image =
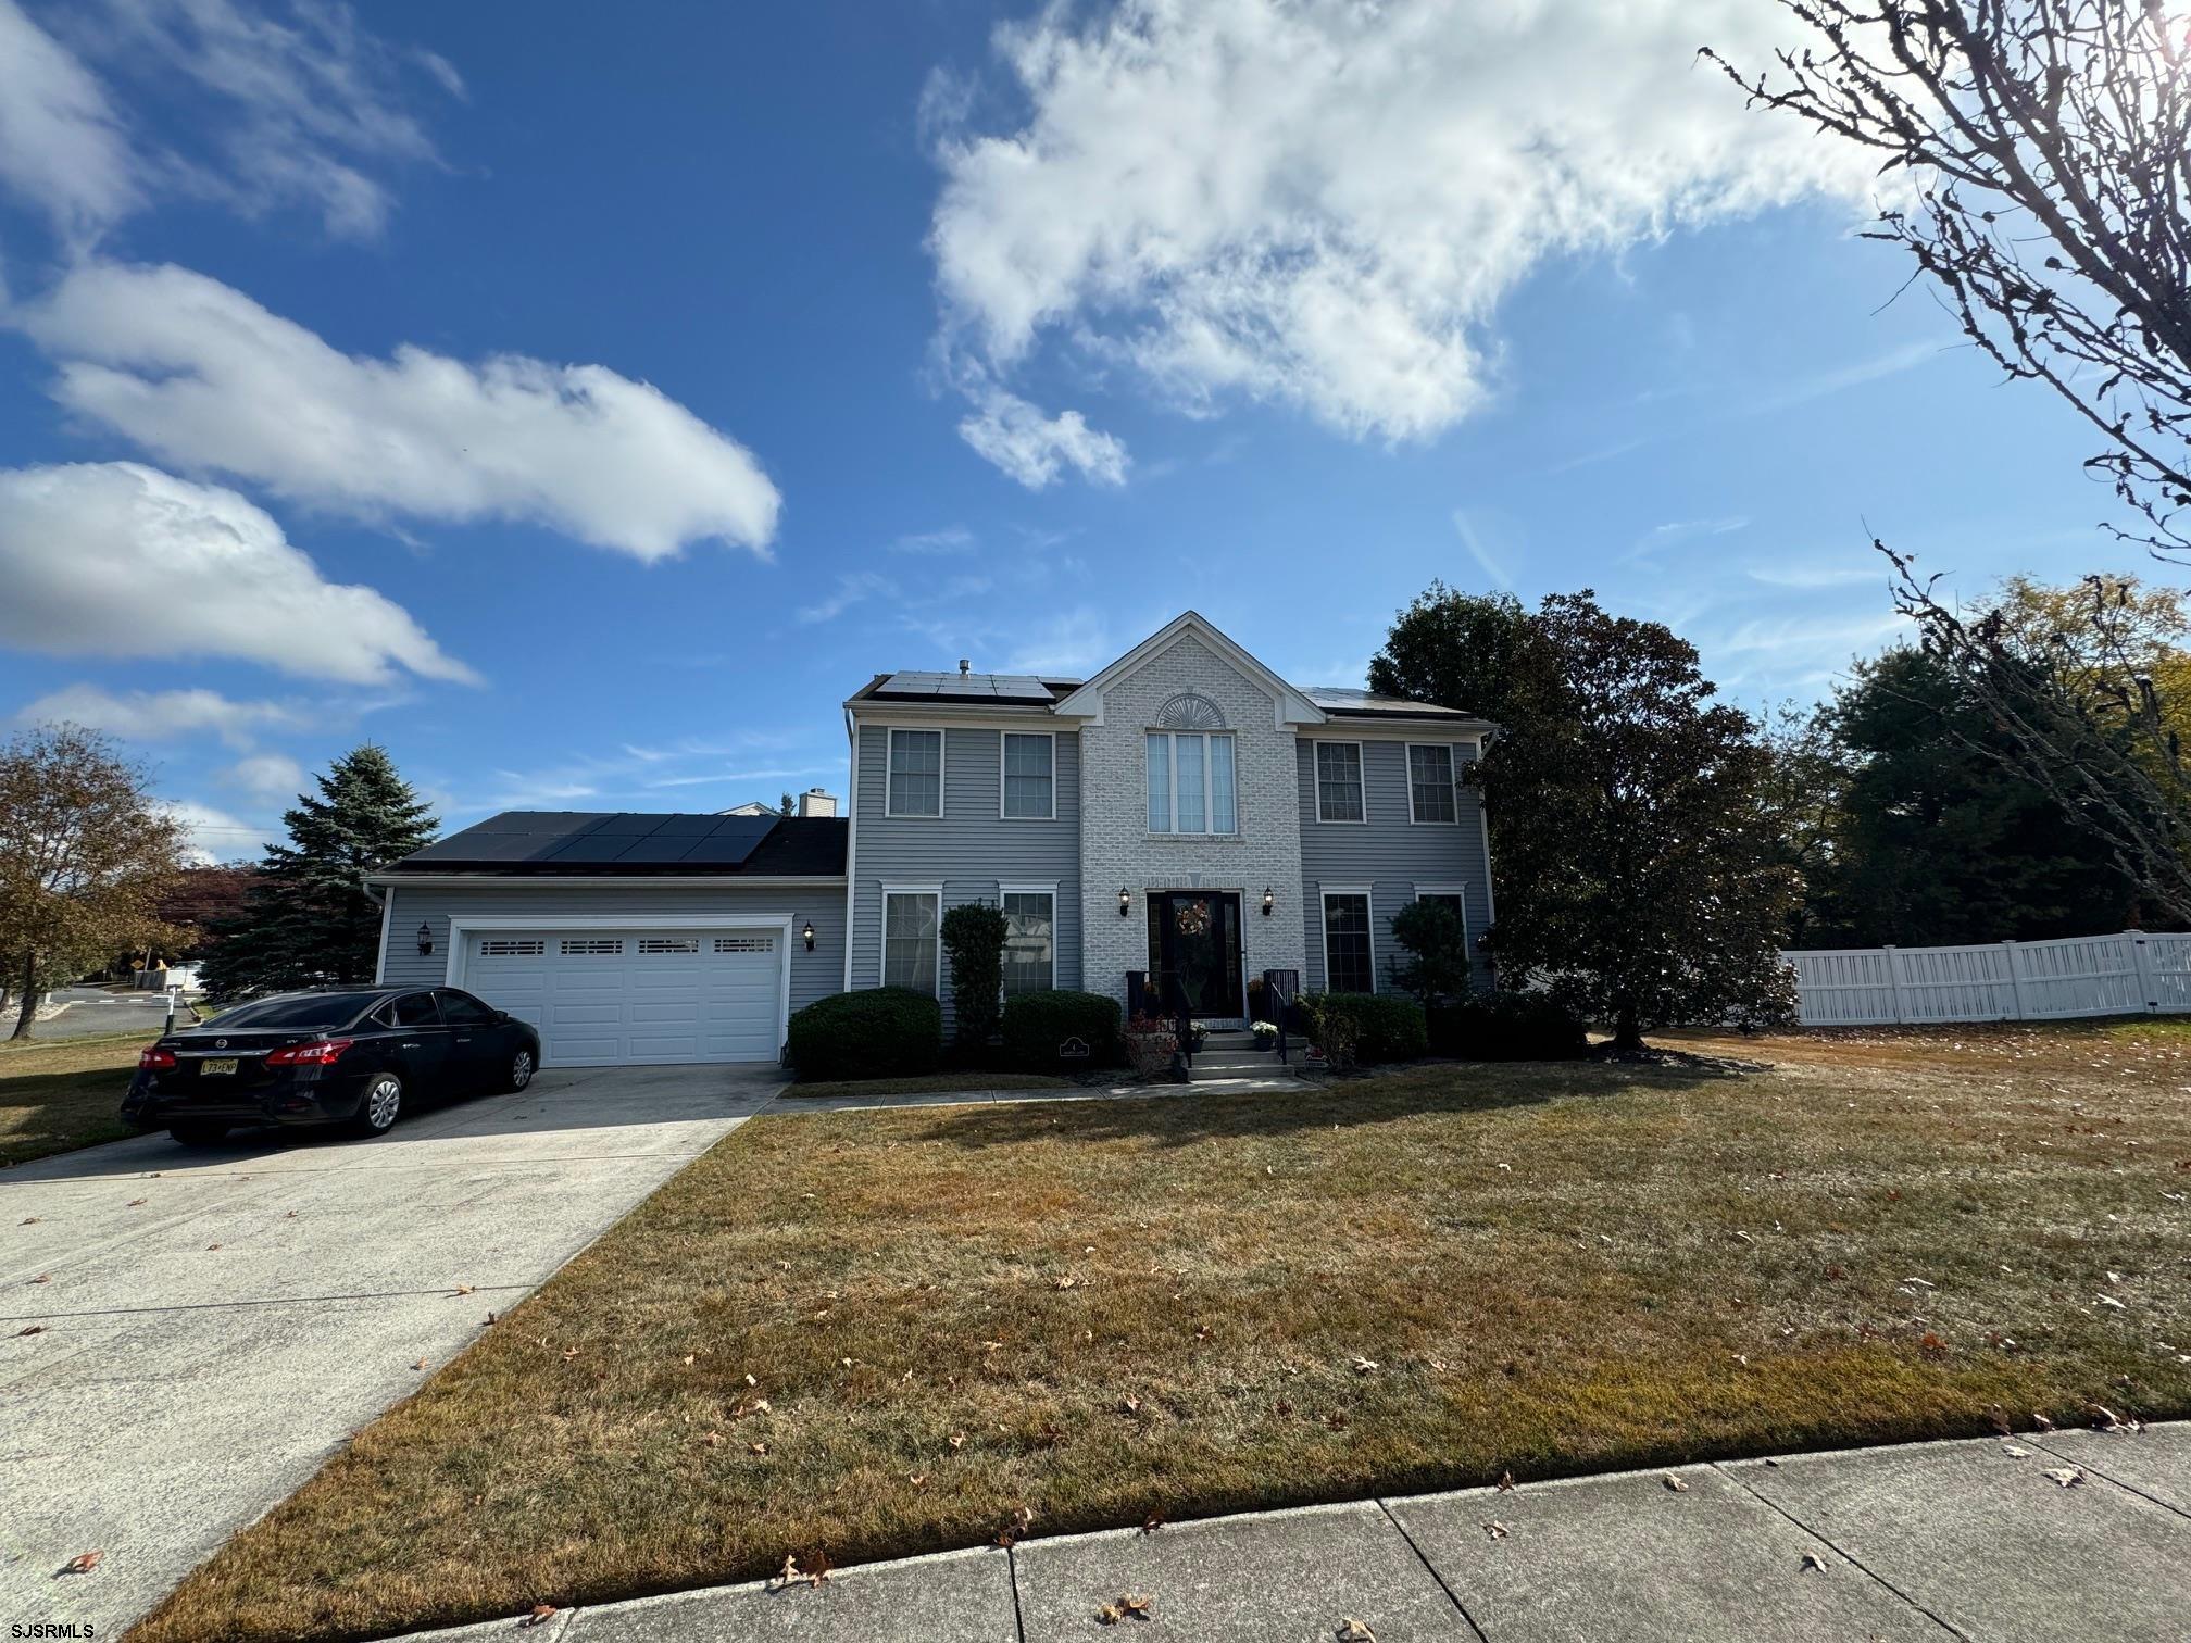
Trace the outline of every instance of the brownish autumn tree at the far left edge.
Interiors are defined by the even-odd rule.
[[[0,745],[0,973],[20,992],[15,1038],[31,1036],[39,990],[169,935],[160,903],[182,854],[182,824],[105,736],[39,725]]]

